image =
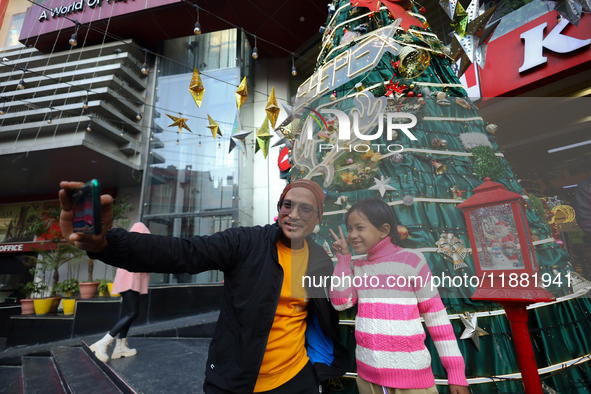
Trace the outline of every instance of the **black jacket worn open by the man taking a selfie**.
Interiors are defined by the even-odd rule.
[[[283,283],[277,256],[281,235],[275,223],[239,227],[211,236],[173,238],[112,229],[109,246],[89,257],[131,272],[224,272],[224,298],[205,371],[206,393],[252,393],[265,354]],[[326,252],[308,239],[308,275],[320,283],[333,265]],[[330,284],[330,280],[328,280]],[[349,362],[337,338],[338,315],[326,287],[308,288],[309,315],[315,314],[334,345],[331,365],[315,363],[319,381],[342,376]]]

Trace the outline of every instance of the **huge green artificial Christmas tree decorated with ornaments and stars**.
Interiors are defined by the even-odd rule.
[[[328,229],[342,225],[356,201],[381,197],[395,210],[408,235],[403,246],[423,252],[439,282],[473,393],[524,389],[505,311],[471,299],[477,282],[470,279],[476,271],[457,205],[486,177],[523,195],[539,266],[539,274],[528,280],[557,299],[528,312],[542,385],[549,393],[587,393],[591,303],[585,293],[591,286],[576,275],[532,208],[494,141],[496,126],[479,117],[453,71],[455,64],[460,73],[470,62],[485,64],[486,41],[494,28],[485,24],[492,11],[479,11],[476,0],[465,10],[457,2],[442,3],[456,28],[451,48],[431,32],[416,2],[343,0],[329,5],[316,72],[300,86],[293,114],[280,125],[291,148],[291,177],[315,180],[327,194],[316,242],[329,254],[333,240]],[[508,234],[514,234],[503,219],[499,212],[490,220],[488,244],[499,261],[513,267],[514,249],[508,245],[515,242]],[[341,334],[352,354],[354,316],[354,311],[341,315]],[[429,338],[426,344],[436,378],[445,379]],[[354,358],[349,371],[354,376]],[[356,392],[349,377],[331,382],[331,390]],[[440,392],[448,392],[444,380],[437,383]]]

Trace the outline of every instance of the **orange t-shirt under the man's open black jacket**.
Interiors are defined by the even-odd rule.
[[[308,362],[305,347],[308,299],[302,286],[302,277],[308,269],[308,244],[304,241],[302,249],[293,250],[279,241],[277,251],[283,267],[283,285],[255,393],[288,382]]]

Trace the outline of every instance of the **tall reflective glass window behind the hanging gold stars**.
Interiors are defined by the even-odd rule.
[[[162,44],[158,64],[142,219],[153,234],[174,237],[211,235],[252,225],[253,140],[246,152],[229,150],[229,136],[237,116],[236,89],[243,67],[238,59],[235,29],[201,34]],[[168,60],[170,59],[170,60]],[[193,68],[205,88],[198,107],[189,92]],[[243,107],[241,119],[246,117]],[[171,126],[169,116],[187,119],[191,130]],[[208,115],[222,136],[213,138]],[[152,275],[152,283],[221,282],[221,272],[198,275]]]

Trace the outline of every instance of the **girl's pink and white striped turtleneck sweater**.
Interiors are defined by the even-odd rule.
[[[335,309],[358,303],[355,318],[357,373],[380,386],[421,389],[435,384],[420,316],[447,370],[448,383],[468,386],[453,327],[420,252],[393,245],[390,237],[368,250],[367,260],[337,254],[330,292]],[[350,278],[350,281],[349,279]],[[335,281],[336,282],[336,281]]]

